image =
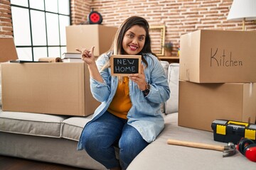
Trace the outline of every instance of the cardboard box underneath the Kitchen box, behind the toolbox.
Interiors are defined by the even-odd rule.
[[[256,84],[179,81],[178,125],[213,131],[215,119],[255,123]]]

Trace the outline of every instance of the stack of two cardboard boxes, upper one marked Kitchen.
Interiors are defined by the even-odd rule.
[[[256,32],[181,36],[178,125],[212,131],[215,119],[255,123]]]

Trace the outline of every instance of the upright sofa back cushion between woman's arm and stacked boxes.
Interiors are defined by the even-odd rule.
[[[171,91],[170,98],[165,103],[165,113],[178,112],[178,76],[179,64],[171,63],[168,69],[168,84]]]

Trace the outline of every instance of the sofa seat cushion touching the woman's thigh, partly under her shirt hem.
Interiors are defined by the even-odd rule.
[[[61,137],[78,141],[82,129],[85,127],[85,124],[92,119],[92,115],[87,117],[78,117],[74,116],[68,119],[63,120],[61,126]]]

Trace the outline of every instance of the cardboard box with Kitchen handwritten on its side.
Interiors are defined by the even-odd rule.
[[[256,82],[256,32],[197,30],[181,35],[180,79]]]

